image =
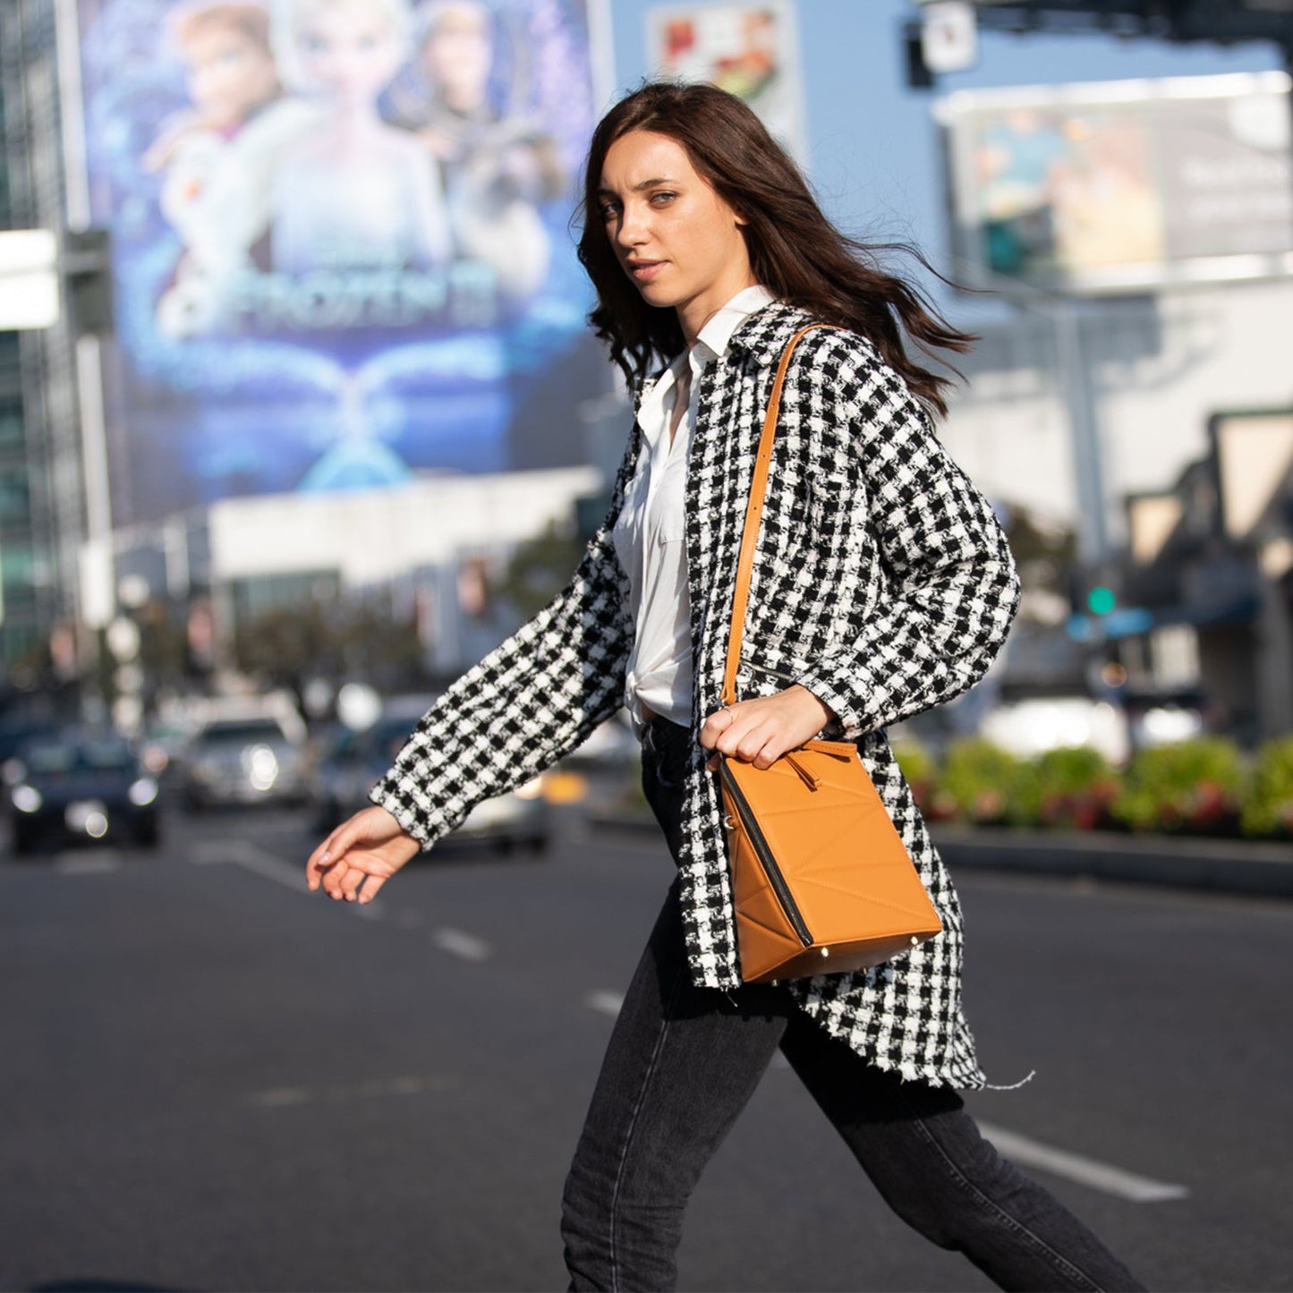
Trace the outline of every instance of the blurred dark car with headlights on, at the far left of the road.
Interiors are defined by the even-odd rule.
[[[4,765],[13,851],[41,840],[158,842],[158,784],[120,737],[69,732],[22,746]]]

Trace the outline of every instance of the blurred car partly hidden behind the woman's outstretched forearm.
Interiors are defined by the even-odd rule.
[[[312,799],[319,830],[331,830],[371,804],[369,791],[394,763],[409,733],[434,701],[433,696],[388,701],[372,727],[363,732],[343,728],[336,733],[313,775]],[[480,840],[504,850],[520,846],[534,852],[543,852],[548,838],[542,776],[477,804],[449,837],[455,843]]]

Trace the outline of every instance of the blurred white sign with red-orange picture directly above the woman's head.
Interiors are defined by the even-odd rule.
[[[790,0],[652,9],[646,62],[656,76],[709,81],[743,98],[773,138],[803,163],[803,93]]]

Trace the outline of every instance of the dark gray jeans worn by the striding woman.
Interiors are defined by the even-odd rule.
[[[678,856],[692,737],[656,719],[646,798]],[[1041,1186],[979,1135],[946,1087],[868,1065],[785,988],[690,983],[676,882],[625,997],[566,1181],[572,1289],[676,1287],[683,1213],[705,1165],[781,1049],[884,1201],[1003,1289],[1143,1285]]]

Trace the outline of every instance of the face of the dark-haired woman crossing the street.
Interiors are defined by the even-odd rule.
[[[688,344],[754,286],[745,221],[668,136],[631,131],[610,145],[599,207],[625,273],[650,305],[678,312]]]

